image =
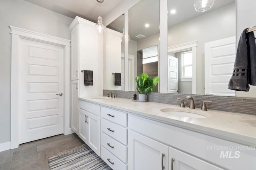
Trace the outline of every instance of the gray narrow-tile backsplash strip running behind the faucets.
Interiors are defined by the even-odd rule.
[[[106,96],[106,90],[103,90],[103,95]],[[132,99],[134,92],[120,91],[120,90],[107,90],[116,93],[118,98]],[[138,92],[136,92],[138,97]],[[172,94],[172,93],[148,93],[148,102],[158,102],[164,104],[180,105],[182,98],[186,107],[189,106],[189,101],[186,96],[194,98],[195,107],[201,108],[202,102],[212,100],[212,103],[206,103],[208,109],[228,111],[234,113],[244,113],[256,115],[256,98],[239,98],[228,96],[207,96],[207,95],[192,95],[192,94]]]

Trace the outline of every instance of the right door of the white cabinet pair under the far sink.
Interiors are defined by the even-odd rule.
[[[87,145],[100,156],[100,117],[87,112]]]

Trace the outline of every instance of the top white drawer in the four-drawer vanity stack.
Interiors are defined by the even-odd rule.
[[[124,127],[127,126],[127,114],[122,111],[101,107],[101,117],[104,117],[105,119],[110,120],[118,125]]]

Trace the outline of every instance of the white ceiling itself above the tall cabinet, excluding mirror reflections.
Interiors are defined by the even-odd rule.
[[[58,12],[64,16],[82,17],[93,22],[100,15],[100,3],[96,0],[26,0],[48,10]],[[101,16],[104,18],[122,0],[104,0],[101,3]]]

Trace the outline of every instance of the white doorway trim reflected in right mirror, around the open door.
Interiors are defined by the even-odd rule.
[[[188,43],[174,45],[172,47],[168,47],[168,53],[178,53],[180,51],[192,50],[192,94],[196,94],[196,63],[197,63],[197,42],[198,41],[191,41]]]

